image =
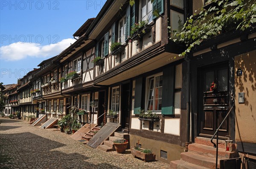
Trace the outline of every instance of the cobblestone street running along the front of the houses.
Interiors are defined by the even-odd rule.
[[[0,169],[168,169],[160,161],[145,163],[125,154],[89,149],[56,129],[32,127],[28,121],[0,118]]]

